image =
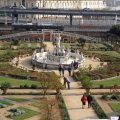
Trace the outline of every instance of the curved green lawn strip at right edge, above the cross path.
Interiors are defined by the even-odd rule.
[[[120,78],[113,78],[110,80],[102,80],[102,81],[94,81],[93,82],[93,87],[99,87],[100,85],[105,86],[113,86],[113,85],[120,85]]]

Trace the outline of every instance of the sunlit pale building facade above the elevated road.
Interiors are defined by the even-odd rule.
[[[26,8],[104,9],[104,0],[0,0],[0,7],[24,5]]]

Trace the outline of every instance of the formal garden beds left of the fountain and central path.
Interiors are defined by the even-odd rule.
[[[14,57],[32,55],[33,51],[40,46],[44,48],[45,44],[41,42],[25,43],[22,40],[0,42],[0,88],[1,94],[4,94],[0,98],[0,109],[3,119],[31,118],[32,120],[35,117],[35,119],[42,118],[42,120],[61,120],[69,118],[62,96],[58,97],[62,85],[54,72],[26,71],[17,68],[17,65],[9,64]],[[17,90],[23,90],[23,92],[18,93]],[[51,91],[49,92],[49,90]],[[22,97],[13,97],[14,94],[22,95]],[[27,98],[28,95],[41,96],[41,98]],[[49,97],[51,95],[53,97]]]

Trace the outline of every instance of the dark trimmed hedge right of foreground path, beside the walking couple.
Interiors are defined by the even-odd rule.
[[[100,119],[107,119],[107,115],[103,111],[103,109],[100,107],[100,105],[97,103],[97,101],[94,99],[94,102],[92,103],[92,108],[95,110],[97,116]]]

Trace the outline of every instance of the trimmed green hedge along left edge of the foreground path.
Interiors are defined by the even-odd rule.
[[[66,108],[66,105],[65,105],[62,95],[59,94],[58,96],[56,96],[56,98],[58,100],[58,106],[61,111],[62,120],[70,120],[70,116],[68,114],[68,110]]]

